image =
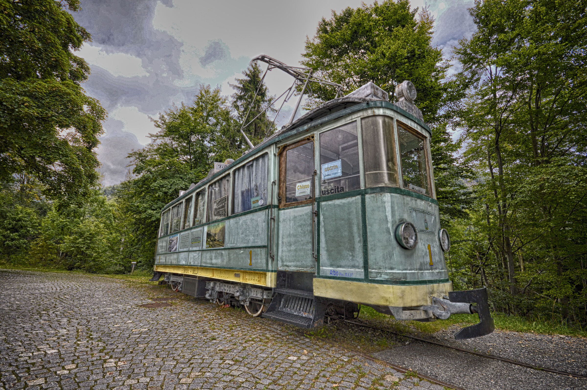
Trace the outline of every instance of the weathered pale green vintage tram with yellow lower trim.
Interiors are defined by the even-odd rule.
[[[448,279],[415,93],[403,82],[392,104],[368,83],[217,163],[161,212],[151,280],[300,327],[361,304],[398,320],[478,313],[456,338],[491,333],[485,289]]]

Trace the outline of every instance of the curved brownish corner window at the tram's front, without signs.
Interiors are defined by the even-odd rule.
[[[365,186],[398,186],[393,119],[377,115],[361,120]]]

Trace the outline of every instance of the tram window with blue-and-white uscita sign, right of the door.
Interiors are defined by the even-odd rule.
[[[357,123],[320,134],[321,195],[361,188]]]

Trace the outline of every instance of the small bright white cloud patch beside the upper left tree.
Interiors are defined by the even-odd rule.
[[[113,76],[149,76],[149,73],[147,73],[147,70],[143,67],[141,59],[139,57],[131,56],[130,54],[106,53],[102,48],[84,43],[76,55],[85,59],[90,65],[103,67],[113,74]]]

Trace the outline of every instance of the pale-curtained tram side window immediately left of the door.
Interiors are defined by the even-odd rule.
[[[247,162],[232,173],[234,182],[234,206],[232,211],[239,213],[267,204],[267,161],[264,154]]]

